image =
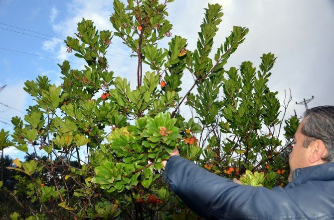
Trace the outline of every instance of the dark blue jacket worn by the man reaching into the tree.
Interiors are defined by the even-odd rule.
[[[334,219],[334,163],[296,169],[284,189],[239,185],[171,156],[163,174],[182,201],[205,219]]]

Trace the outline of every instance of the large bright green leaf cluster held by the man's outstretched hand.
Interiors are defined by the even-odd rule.
[[[111,144],[101,145],[101,151],[92,160],[92,182],[101,184],[108,192],[122,192],[137,186],[141,176],[140,184],[148,189],[160,176],[154,175],[154,171],[163,167],[161,161],[168,158],[181,138],[175,123],[169,113],[159,113],[154,119],[142,117],[134,126],[113,130],[108,137]]]

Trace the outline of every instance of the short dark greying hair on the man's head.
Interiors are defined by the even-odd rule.
[[[301,129],[306,139],[303,147],[319,139],[325,143],[327,155],[323,159],[334,162],[334,106],[319,106],[304,113],[304,124]]]

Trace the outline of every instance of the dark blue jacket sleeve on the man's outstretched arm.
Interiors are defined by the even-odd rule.
[[[169,158],[163,176],[172,191],[205,219],[306,218],[281,187],[239,185],[180,156]]]

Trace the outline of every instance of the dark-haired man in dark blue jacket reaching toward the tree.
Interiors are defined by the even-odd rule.
[[[165,165],[170,188],[205,219],[334,219],[334,106],[309,109],[289,156],[289,184],[283,189],[239,185],[179,156]]]

